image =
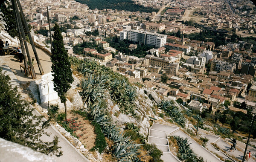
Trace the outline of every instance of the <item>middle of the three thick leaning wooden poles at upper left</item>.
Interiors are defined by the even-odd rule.
[[[13,0],[13,1],[14,1],[15,11],[16,11],[16,14],[17,14],[17,19],[18,19],[18,22],[20,24],[21,35],[23,37],[26,53],[27,53],[28,60],[29,60],[29,65],[30,65],[30,69],[31,69],[31,76],[32,76],[32,79],[35,79],[36,78],[35,70],[34,70],[34,67],[33,67],[33,64],[32,64],[31,58],[30,58],[29,47],[28,47],[27,42],[26,42],[26,36],[25,36],[24,29],[23,29],[22,21],[21,21],[21,18],[20,18],[20,12],[18,10],[16,0]]]

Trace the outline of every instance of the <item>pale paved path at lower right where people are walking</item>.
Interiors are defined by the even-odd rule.
[[[224,159],[227,159],[228,156],[232,158],[235,157],[239,160],[242,161],[243,159],[243,156],[244,156],[244,153],[242,153],[241,151],[239,150],[234,150],[232,152],[230,152],[230,147],[231,147],[231,144],[228,144],[227,142],[225,142],[223,139],[221,139],[220,137],[217,137],[217,136],[212,136],[212,135],[206,135],[204,136],[206,137],[207,139],[209,139],[208,141],[208,144],[207,144],[207,148],[213,148],[213,146],[210,144],[210,143],[214,143],[216,144],[221,150],[217,150],[215,148],[215,151],[212,150],[213,152],[217,153],[219,156],[222,156]],[[209,149],[208,148],[208,149]],[[249,151],[249,150],[248,150]],[[251,149],[250,150],[253,153],[255,153],[255,149]],[[230,160],[230,159],[229,159]],[[248,162],[255,162],[255,160],[253,160],[252,158],[248,160]]]

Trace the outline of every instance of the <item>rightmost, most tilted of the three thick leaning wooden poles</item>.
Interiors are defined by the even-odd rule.
[[[21,5],[20,5],[20,1],[19,1],[19,0],[16,0],[16,1],[17,1],[18,6],[19,6],[19,9],[20,9],[20,13],[21,13],[23,22],[24,22],[24,24],[25,24],[26,32],[27,32],[27,34],[28,34],[28,36],[29,36],[29,41],[30,41],[30,43],[31,43],[31,46],[32,46],[32,49],[33,49],[33,52],[34,52],[34,55],[35,55],[35,60],[36,60],[36,62],[38,63],[39,71],[40,71],[41,75],[44,75],[44,70],[43,70],[43,68],[42,68],[42,66],[41,66],[41,63],[40,63],[40,60],[39,60],[39,58],[38,58],[38,53],[36,52],[36,49],[35,49],[35,43],[34,43],[34,40],[32,39],[31,34],[30,34],[29,26],[28,26],[28,24],[27,24],[27,22],[26,22],[26,19],[25,19],[23,10],[22,10]]]

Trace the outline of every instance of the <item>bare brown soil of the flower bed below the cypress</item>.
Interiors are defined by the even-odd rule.
[[[75,131],[76,136],[79,137],[79,141],[84,145],[84,148],[90,150],[93,148],[96,134],[94,133],[94,127],[90,124],[88,120],[78,114],[68,112],[67,119],[74,119],[78,126],[78,130]]]

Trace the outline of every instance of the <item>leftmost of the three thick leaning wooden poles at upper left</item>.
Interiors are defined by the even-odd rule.
[[[14,1],[11,0],[11,3],[12,3],[12,11],[13,11],[13,14],[14,14],[14,17],[15,17],[15,22],[16,22],[16,27],[17,27],[17,31],[19,33],[19,39],[20,39],[20,48],[21,48],[21,51],[22,51],[22,54],[23,54],[23,61],[24,61],[24,67],[25,67],[25,74],[26,75],[29,75],[29,67],[28,67],[28,64],[27,64],[27,61],[26,61],[26,52],[24,50],[24,45],[23,45],[23,38],[21,36],[21,32],[20,32],[20,24],[19,24],[19,21],[17,20],[17,12],[16,12],[16,9],[14,7]]]

